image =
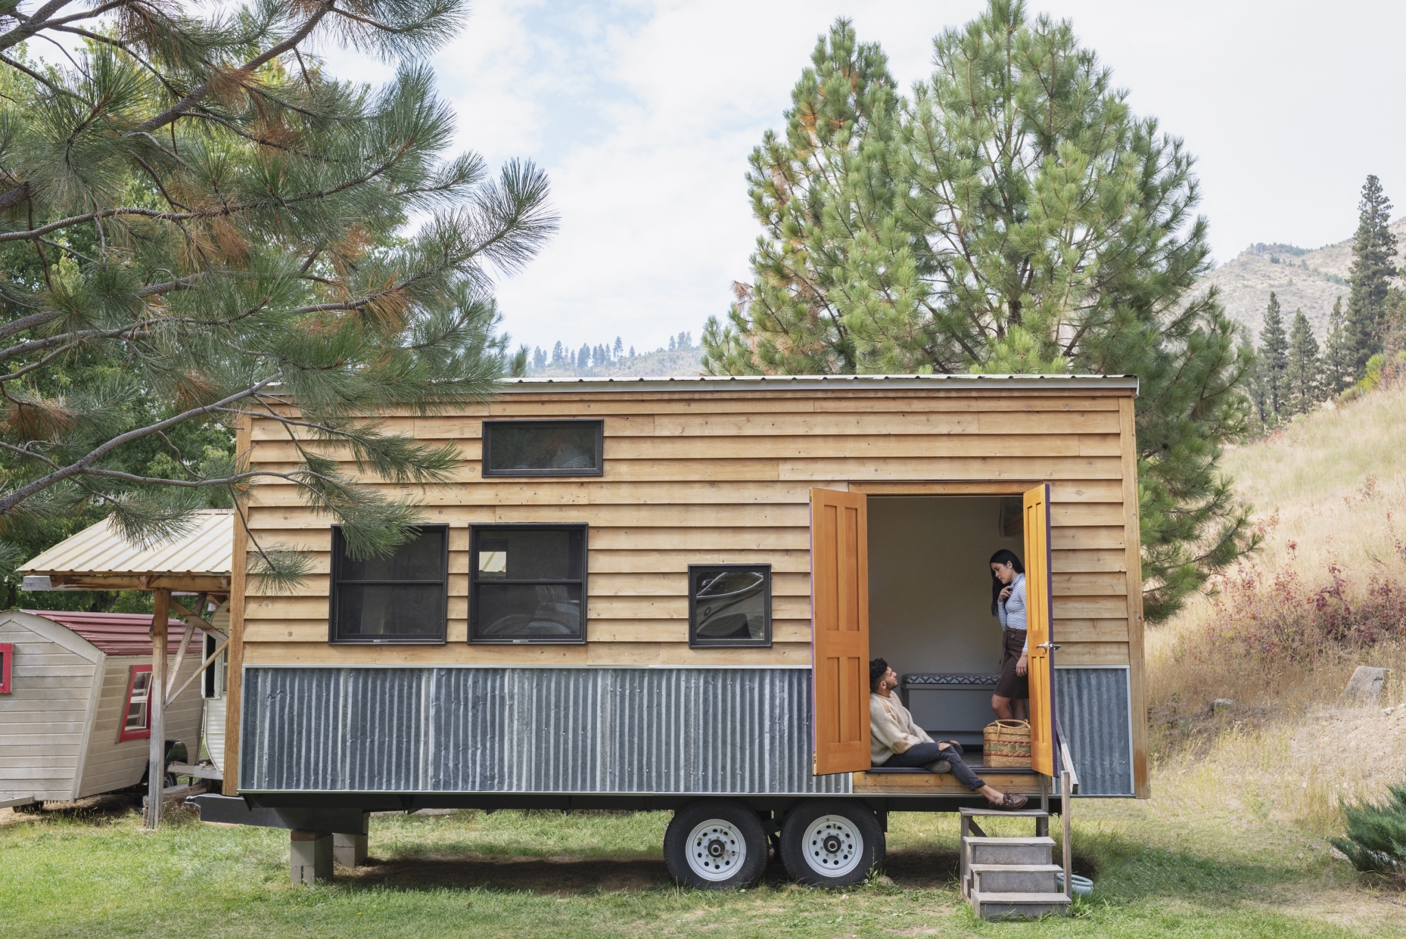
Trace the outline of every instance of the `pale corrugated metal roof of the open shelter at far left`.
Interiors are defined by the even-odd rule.
[[[108,519],[65,538],[20,567],[24,574],[228,574],[235,549],[235,515],[228,510],[195,514],[190,534],[139,548]]]

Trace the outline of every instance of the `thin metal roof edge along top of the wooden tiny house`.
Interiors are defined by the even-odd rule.
[[[692,374],[620,379],[503,379],[499,390],[541,391],[815,391],[898,390],[935,386],[976,390],[1130,389],[1136,374]]]

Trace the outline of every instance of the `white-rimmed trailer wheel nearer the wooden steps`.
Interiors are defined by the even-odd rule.
[[[782,826],[782,863],[801,884],[849,887],[883,864],[879,819],[863,802],[803,802]]]

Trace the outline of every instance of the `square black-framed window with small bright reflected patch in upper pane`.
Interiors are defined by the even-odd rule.
[[[585,642],[586,527],[474,525],[470,642]]]

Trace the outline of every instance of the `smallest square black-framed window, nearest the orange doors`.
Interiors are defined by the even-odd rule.
[[[689,565],[689,646],[770,645],[770,565]]]

